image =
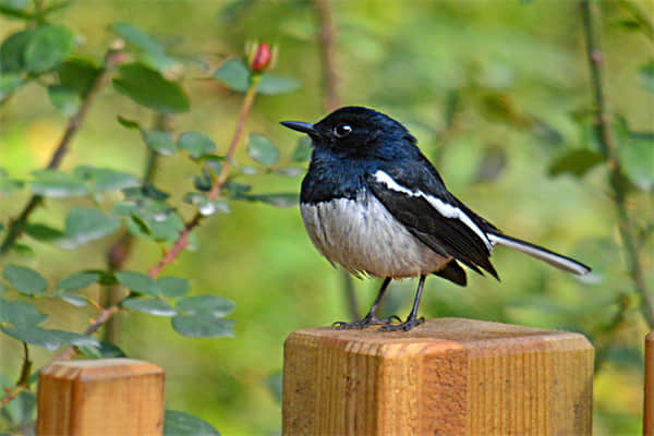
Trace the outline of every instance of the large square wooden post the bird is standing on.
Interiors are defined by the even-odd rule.
[[[300,330],[282,434],[590,435],[593,359],[582,335],[461,318]]]

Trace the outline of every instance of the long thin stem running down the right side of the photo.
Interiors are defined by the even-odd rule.
[[[582,0],[581,9],[584,23],[584,33],[586,40],[586,56],[591,70],[591,80],[593,94],[596,105],[597,119],[596,129],[600,135],[600,144],[606,156],[606,165],[609,172],[609,184],[613,191],[613,199],[618,215],[618,229],[622,239],[622,249],[627,261],[629,275],[633,281],[633,287],[641,295],[641,312],[650,328],[654,327],[654,300],[645,284],[645,277],[641,265],[639,251],[635,246],[634,229],[627,210],[627,192],[623,182],[618,149],[610,125],[611,119],[608,112],[606,94],[604,89],[603,76],[603,52],[600,44],[600,34],[595,28],[595,22],[598,21],[598,3],[592,0]]]

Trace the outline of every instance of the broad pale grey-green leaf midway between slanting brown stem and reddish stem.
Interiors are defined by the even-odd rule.
[[[113,234],[120,229],[120,219],[89,207],[73,207],[65,217],[64,235],[59,246],[76,249],[88,242]]]

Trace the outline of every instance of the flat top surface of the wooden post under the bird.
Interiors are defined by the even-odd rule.
[[[427,319],[421,326],[409,331],[377,331],[378,327],[363,330],[338,330],[332,327],[318,327],[292,332],[287,342],[320,341],[372,346],[370,352],[397,349],[408,344],[429,344],[443,348],[491,348],[497,343],[508,346],[516,342],[547,342],[556,340],[560,343],[570,341],[574,348],[592,349],[593,346],[580,334],[562,330],[547,330],[511,324],[500,324],[467,318]],[[363,350],[362,350],[363,351]],[[409,351],[409,350],[407,350]],[[412,351],[409,351],[410,353]]]

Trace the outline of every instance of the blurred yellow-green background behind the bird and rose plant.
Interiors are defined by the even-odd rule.
[[[651,1],[634,2],[654,19]],[[652,41],[628,25],[619,1],[602,3],[606,90],[611,109],[632,131],[651,131],[654,99],[639,81],[639,68],[653,58]],[[578,256],[594,268],[584,281],[509,250],[494,253],[501,283],[469,274],[468,288],[427,280],[423,315],[460,316],[589,336],[597,348],[596,435],[639,434],[642,410],[642,341],[647,331],[626,272],[606,171],[583,179],[548,175],[557,156],[592,141],[592,108],[581,11],[572,0],[533,1],[332,1],[338,29],[336,55],[340,100],[373,107],[408,125],[437,165],[448,187],[500,229],[555,251]],[[280,120],[317,121],[325,111],[324,74],[317,44],[319,24],[312,2],[249,1],[73,1],[50,21],[70,26],[76,53],[101,59],[116,38],[111,26],[128,22],[155,35],[189,59],[183,86],[192,109],[174,116],[175,131],[205,132],[226,153],[242,97],[206,80],[227,58],[242,56],[249,40],[279,47],[275,73],[302,87],[279,96],[257,96],[246,133],[264,133],[289,156],[298,135]],[[0,17],[0,37],[21,27]],[[199,61],[198,61],[199,60]],[[74,140],[63,170],[78,165],[140,174],[146,148],[116,116],[153,121],[109,86]],[[580,121],[581,120],[581,121]],[[27,179],[49,159],[65,118],[43,87],[26,86],[0,107],[0,166]],[[237,161],[251,165],[241,147]],[[654,162],[653,162],[654,166]],[[179,156],[160,159],[159,187],[180,198],[192,187],[193,165]],[[654,171],[654,170],[653,170]],[[301,177],[244,177],[253,192],[298,192]],[[119,195],[119,194],[116,194]],[[23,207],[28,192],[0,197],[0,221]],[[65,210],[85,199],[48,201],[34,215],[61,227]],[[182,216],[192,207],[181,202]],[[652,193],[631,194],[634,220],[654,216]],[[231,215],[207,219],[199,245],[183,253],[166,275],[187,277],[192,292],[235,302],[235,337],[189,339],[166,318],[122,316],[121,348],[131,358],[167,372],[170,409],[193,413],[225,435],[269,435],[280,429],[278,382],[284,338],[300,328],[327,326],[348,317],[342,276],[312,246],[296,207],[232,202]],[[11,254],[0,262],[29,265],[52,281],[83,268],[105,268],[111,239],[77,251],[31,241],[35,255]],[[654,287],[652,241],[643,241],[643,265]],[[146,270],[160,255],[140,241],[126,268]],[[395,282],[386,312],[404,316],[415,280]],[[378,280],[354,282],[362,311]],[[99,292],[89,291],[89,294]],[[94,315],[65,303],[44,301],[50,328],[82,331]],[[19,341],[0,336],[0,374],[14,379]],[[49,360],[33,350],[36,367]]]

